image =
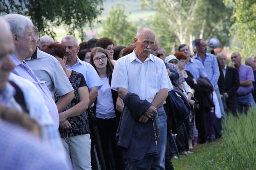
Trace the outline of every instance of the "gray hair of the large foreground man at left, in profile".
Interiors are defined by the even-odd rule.
[[[13,34],[17,34],[21,38],[23,38],[25,29],[27,27],[33,27],[32,21],[26,16],[20,14],[7,14],[3,16],[3,19],[9,23],[11,32]]]

